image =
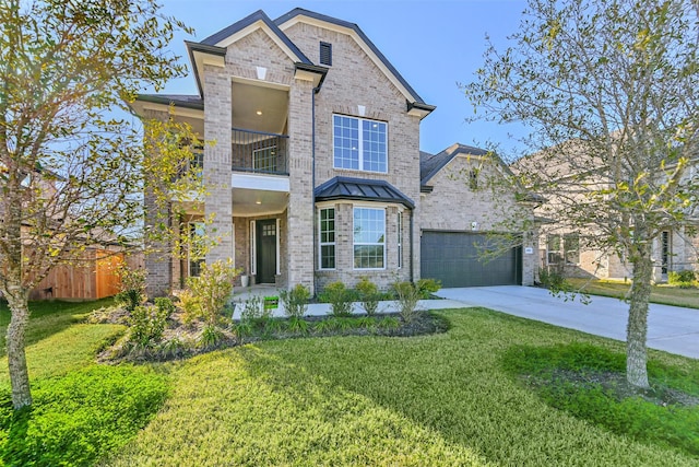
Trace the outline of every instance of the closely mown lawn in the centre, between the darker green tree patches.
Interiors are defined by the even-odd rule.
[[[512,346],[581,341],[620,352],[623,345],[479,308],[443,315],[452,328],[442,335],[265,341],[185,362],[161,412],[107,464],[699,462],[550,407],[501,366]],[[651,355],[699,378],[697,361]]]

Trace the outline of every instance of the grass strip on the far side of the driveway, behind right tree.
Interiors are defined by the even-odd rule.
[[[591,295],[624,299],[631,287],[631,282],[606,281],[588,279],[567,279],[576,289],[581,289]],[[699,291],[697,289],[680,289],[678,287],[661,284],[653,285],[651,303],[663,305],[686,306],[699,308]]]

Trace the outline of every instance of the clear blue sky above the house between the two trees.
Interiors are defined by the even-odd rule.
[[[514,148],[510,133],[523,135],[517,125],[466,122],[473,106],[458,83],[474,79],[483,65],[486,35],[498,49],[518,30],[523,0],[162,0],[163,13],[183,21],[192,37],[176,35],[171,51],[189,66],[183,40],[202,40],[211,34],[263,10],[272,20],[294,8],[356,23],[427,104],[437,109],[420,125],[420,150],[437,153],[454,142],[502,151]],[[197,94],[189,75],[170,81],[163,93]]]

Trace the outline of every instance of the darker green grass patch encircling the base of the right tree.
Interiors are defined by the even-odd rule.
[[[624,373],[625,355],[590,345],[516,346],[505,353],[503,363],[553,407],[615,433],[699,456],[699,406],[677,404],[674,392],[682,390],[683,399],[685,395],[699,395],[695,373],[650,362],[648,371],[654,387],[639,394],[609,376]],[[699,397],[694,399],[699,402]]]

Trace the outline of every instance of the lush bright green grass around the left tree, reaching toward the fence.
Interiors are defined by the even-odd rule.
[[[95,363],[123,326],[82,324],[109,301],[31,303],[27,364],[34,404],[12,410],[8,359],[0,358],[0,465],[91,465],[133,437],[167,397],[158,366]],[[0,308],[0,332],[9,323]]]

